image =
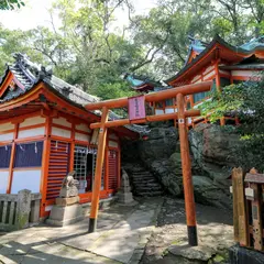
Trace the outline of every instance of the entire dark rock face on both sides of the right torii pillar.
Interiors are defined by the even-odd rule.
[[[130,155],[152,172],[168,194],[183,196],[177,129],[153,128],[147,138],[145,141],[127,144],[127,155],[131,150]],[[239,144],[239,136],[231,128],[199,124],[189,131],[189,143],[196,201],[231,208],[230,175],[237,163],[232,151]]]

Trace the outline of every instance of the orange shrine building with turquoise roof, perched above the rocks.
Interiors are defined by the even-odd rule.
[[[212,91],[219,90],[231,84],[260,79],[264,69],[264,36],[253,38],[241,46],[232,46],[220,36],[216,36],[210,43],[190,38],[188,55],[184,67],[172,78],[165,80],[167,86],[162,86],[147,78],[128,75],[132,89],[139,92],[152,92],[170,89],[183,85],[198,84],[212,80]],[[200,92],[186,96],[186,108],[197,108],[204,100],[209,99],[209,92]],[[166,100],[153,105],[155,114],[177,111],[176,100]],[[195,127],[206,119],[189,118],[188,123]],[[223,117],[221,124],[237,122],[234,117]]]

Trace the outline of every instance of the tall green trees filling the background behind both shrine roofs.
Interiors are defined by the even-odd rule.
[[[52,65],[55,75],[90,94],[130,96],[121,76],[172,77],[185,64],[188,35],[209,42],[218,33],[239,45],[264,33],[263,0],[161,0],[141,15],[133,13],[132,2],[58,0],[51,18],[59,15],[59,29],[53,23],[53,30],[38,26],[22,32],[0,25],[0,72],[12,53],[22,52],[32,61]],[[117,25],[118,10],[127,12],[128,25]]]

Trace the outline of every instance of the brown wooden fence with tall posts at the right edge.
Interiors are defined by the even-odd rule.
[[[234,240],[241,246],[264,251],[264,174],[254,168],[232,172]]]

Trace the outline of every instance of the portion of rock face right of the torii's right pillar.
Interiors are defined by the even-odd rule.
[[[198,188],[204,190],[199,191],[199,197],[206,195],[209,204],[231,207],[230,176],[232,167],[238,164],[235,148],[240,144],[239,135],[234,133],[233,127],[199,124],[189,132],[189,142],[194,161],[201,175],[207,178],[199,180],[194,178],[196,190]]]

